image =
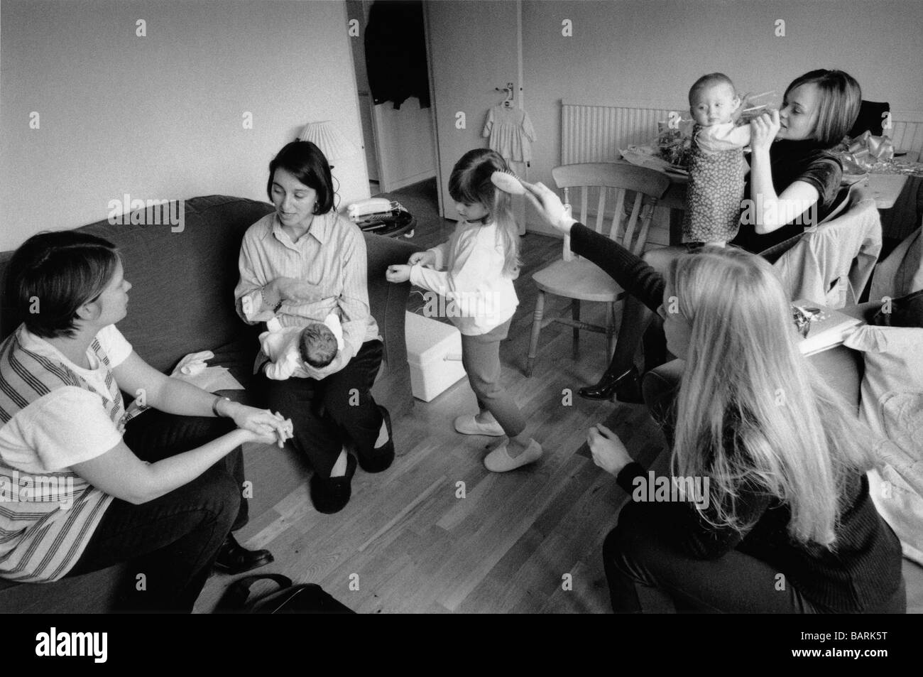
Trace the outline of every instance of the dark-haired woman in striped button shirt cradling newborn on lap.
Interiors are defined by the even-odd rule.
[[[336,513],[352,494],[356,459],[346,451],[348,439],[366,472],[394,460],[388,410],[369,392],[383,345],[368,308],[366,240],[334,209],[330,165],[310,141],[279,151],[266,189],[276,211],[244,236],[237,312],[251,324],[276,317],[283,327],[341,315],[342,350],[314,378],[270,380],[266,357],[258,357],[258,386],[273,411],[292,418],[294,446],[314,466],[311,501],[321,513]]]

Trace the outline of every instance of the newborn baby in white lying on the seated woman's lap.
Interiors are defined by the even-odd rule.
[[[259,334],[259,345],[270,363],[266,376],[273,381],[312,379],[318,370],[330,365],[343,346],[340,318],[330,313],[323,322],[309,322],[305,327],[282,327],[273,318],[266,323],[268,332]]]

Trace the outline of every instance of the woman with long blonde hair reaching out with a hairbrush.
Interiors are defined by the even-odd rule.
[[[684,360],[669,407],[674,490],[639,490],[653,478],[617,435],[587,435],[633,499],[605,539],[613,609],[905,611],[900,544],[865,476],[877,441],[798,352],[770,264],[708,247],[664,277],[527,187],[575,253],[661,315]]]

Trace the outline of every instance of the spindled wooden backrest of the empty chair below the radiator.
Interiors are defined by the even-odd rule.
[[[573,192],[577,195],[573,197],[580,199],[580,212],[574,213],[574,218],[593,227],[601,235],[605,235],[607,197],[611,193],[614,202],[609,201],[608,204],[614,205],[614,211],[609,221],[608,236],[622,247],[641,255],[647,242],[653,208],[670,187],[667,175],[630,163],[563,164],[552,169],[551,175],[557,187],[564,189],[566,204],[572,204],[571,189],[576,188]],[[594,224],[587,221],[591,191],[598,196]],[[633,196],[629,196],[629,191]],[[570,243],[565,239],[565,259],[569,259],[569,248]]]

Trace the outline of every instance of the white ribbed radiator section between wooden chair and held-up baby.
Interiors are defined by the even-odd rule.
[[[561,164],[618,160],[620,149],[650,143],[669,108],[561,103]]]

